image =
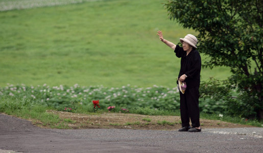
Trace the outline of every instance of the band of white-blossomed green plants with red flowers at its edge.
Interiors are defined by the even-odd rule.
[[[180,109],[180,95],[177,87],[168,88],[157,85],[143,88],[129,84],[122,87],[87,87],[78,84],[73,86],[8,84],[5,87],[0,87],[1,97],[28,99],[61,111],[74,111],[82,106],[93,107],[95,111],[100,107],[100,109],[111,111],[115,108],[114,106],[117,106],[122,108],[122,112],[129,112],[127,108],[137,107],[171,111]],[[94,102],[94,100],[100,100],[100,105],[99,101]],[[205,112],[213,112],[223,107],[220,101],[213,102],[212,99],[200,99],[199,105],[200,110]],[[74,110],[69,108],[74,108]]]

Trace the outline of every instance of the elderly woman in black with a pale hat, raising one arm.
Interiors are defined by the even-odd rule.
[[[200,71],[201,57],[196,50],[197,38],[194,35],[186,35],[180,38],[182,47],[173,44],[172,42],[163,39],[162,32],[158,30],[157,35],[160,40],[171,47],[176,56],[181,58],[181,69],[179,72],[179,80],[186,83],[184,94],[180,92],[180,112],[182,128],[178,131],[201,132],[200,127],[200,112],[199,112],[199,86],[200,86]],[[192,122],[192,127],[189,124],[189,118]]]

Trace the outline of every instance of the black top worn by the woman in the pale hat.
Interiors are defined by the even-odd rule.
[[[186,56],[186,51],[182,47],[176,45],[175,53],[177,57],[181,57],[181,69],[178,75],[187,75],[185,79],[187,88],[200,86],[200,72],[201,72],[201,56],[199,52],[193,48]]]

